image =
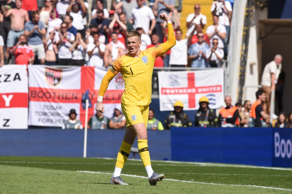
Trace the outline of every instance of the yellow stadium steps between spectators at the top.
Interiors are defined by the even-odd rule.
[[[213,3],[213,0],[183,0],[182,1],[182,11],[181,11],[181,30],[183,31],[183,34],[186,34],[187,27],[186,27],[186,19],[188,17],[188,14],[194,13],[194,6],[195,4],[201,5],[201,13],[203,15],[207,16],[207,25],[203,29],[203,32],[206,32],[206,28],[213,24],[212,21],[212,13],[210,11],[211,5]]]

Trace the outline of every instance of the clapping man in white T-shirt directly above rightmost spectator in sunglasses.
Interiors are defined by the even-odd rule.
[[[210,39],[210,47],[213,47],[212,41],[216,38],[218,39],[218,47],[224,49],[223,41],[226,38],[226,28],[223,25],[219,25],[218,21],[218,15],[213,15],[213,25],[206,29],[206,35]]]

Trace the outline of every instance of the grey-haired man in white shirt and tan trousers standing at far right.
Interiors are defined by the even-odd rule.
[[[271,91],[275,91],[276,83],[279,78],[282,69],[283,57],[277,54],[273,61],[266,64],[264,71],[262,72],[262,90],[266,93],[266,102],[264,103],[263,109],[270,114],[270,103],[271,103]]]

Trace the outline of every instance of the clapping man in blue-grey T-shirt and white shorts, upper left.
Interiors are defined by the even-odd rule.
[[[25,23],[24,35],[28,38],[28,46],[33,49],[33,53],[38,56],[40,64],[43,65],[46,57],[43,36],[46,35],[46,29],[37,12],[33,11],[32,20]]]

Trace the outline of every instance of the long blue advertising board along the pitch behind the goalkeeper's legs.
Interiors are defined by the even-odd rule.
[[[87,157],[116,158],[124,132],[89,130]],[[0,130],[0,155],[83,157],[83,140],[84,130]],[[291,129],[172,128],[148,131],[148,141],[152,160],[292,167]]]

